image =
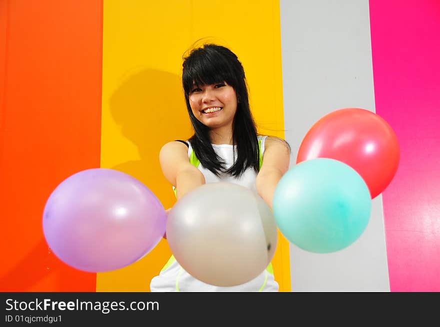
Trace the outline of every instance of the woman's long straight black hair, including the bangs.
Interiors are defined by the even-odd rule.
[[[217,156],[209,139],[209,128],[195,118],[189,105],[189,93],[193,84],[210,85],[226,82],[237,96],[237,110],[232,122],[232,144],[237,146],[237,159],[229,169]],[[184,57],[182,85],[186,108],[194,128],[189,138],[200,163],[213,174],[220,172],[233,177],[240,176],[248,167],[258,172],[259,147],[256,126],[249,108],[244,69],[237,56],[228,48],[216,44],[204,44]]]

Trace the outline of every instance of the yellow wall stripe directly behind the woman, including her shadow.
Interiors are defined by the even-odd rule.
[[[165,209],[175,197],[158,153],[164,143],[191,135],[181,63],[200,38],[238,55],[259,132],[283,137],[277,0],[104,1],[101,167],[139,179]],[[149,291],[170,255],[162,240],[138,262],[98,273],[96,291]],[[288,242],[280,234],[272,264],[280,291],[290,291]]]

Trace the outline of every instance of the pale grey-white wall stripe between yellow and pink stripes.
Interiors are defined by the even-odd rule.
[[[340,108],[374,111],[368,0],[280,0],[285,137],[291,166],[315,121]],[[388,292],[381,195],[360,238],[330,254],[290,244],[292,292]]]

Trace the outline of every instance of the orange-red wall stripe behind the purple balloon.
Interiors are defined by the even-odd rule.
[[[42,212],[61,181],[99,167],[102,0],[0,6],[1,291],[94,292],[96,274],[50,253]]]

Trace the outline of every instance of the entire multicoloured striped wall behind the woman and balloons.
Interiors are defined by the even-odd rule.
[[[280,241],[280,291],[440,291],[440,3],[437,0],[1,0],[0,291],[149,291],[165,240],[109,273],[60,262],[42,211],[65,178],[113,168],[174,203],[158,151],[191,133],[179,83],[200,38],[242,61],[261,133],[291,162],[308,128],[343,107],[396,132],[400,165],[365,233],[333,254]]]

